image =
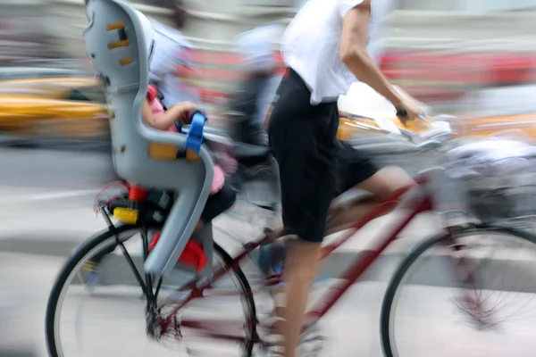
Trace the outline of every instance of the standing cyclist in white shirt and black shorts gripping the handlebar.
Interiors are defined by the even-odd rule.
[[[288,75],[281,80],[268,134],[280,169],[283,234],[291,244],[283,272],[286,308],[279,311],[282,323],[276,327],[283,346],[274,346],[271,355],[296,355],[337,188],[336,158],[349,150],[336,140],[339,95],[359,79],[404,113],[403,119],[421,114],[415,101],[401,95],[374,61],[373,44],[391,5],[386,0],[309,0],[283,35],[281,53]],[[396,176],[376,170],[365,157],[357,156],[351,167],[359,187],[375,195],[400,186]]]

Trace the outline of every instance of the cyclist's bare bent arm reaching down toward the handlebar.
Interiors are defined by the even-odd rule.
[[[343,26],[339,49],[340,60],[356,75],[357,79],[373,87],[376,92],[399,108],[404,102],[403,97],[383,76],[366,50],[371,1],[373,0],[364,0],[348,11],[341,8]]]

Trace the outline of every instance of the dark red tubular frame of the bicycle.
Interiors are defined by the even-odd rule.
[[[343,271],[343,273],[338,277],[344,282],[339,284],[336,287],[331,286],[328,292],[322,296],[320,301],[314,305],[314,308],[311,311],[306,312],[306,323],[312,324],[317,320],[320,320],[328,311],[331,310],[331,307],[339,301],[339,298],[344,295],[350,286],[352,286],[358,278],[367,270],[372,263],[380,256],[380,254],[397,239],[398,234],[406,228],[408,223],[415,218],[415,216],[421,212],[431,211],[432,209],[432,200],[429,191],[423,189],[424,185],[429,182],[430,179],[426,175],[419,176],[415,179],[416,185],[409,187],[404,187],[394,194],[390,195],[385,201],[379,204],[373,209],[372,212],[369,212],[362,220],[356,222],[356,224],[348,229],[348,232],[339,237],[335,242],[325,245],[322,248],[322,259],[329,256],[333,251],[339,248],[340,245],[343,245],[352,237],[356,231],[360,228],[363,228],[371,220],[374,220],[387,212],[390,212],[396,208],[402,202],[402,196],[407,194],[407,199],[405,200],[405,209],[407,210],[407,215],[404,219],[400,220],[397,225],[394,225],[391,228],[386,237],[377,242],[377,246],[369,251],[364,258],[354,260],[349,266],[348,269]],[[415,194],[415,195],[414,195]],[[236,268],[239,265],[239,262],[244,260],[250,253],[252,253],[255,248],[259,245],[264,245],[269,243],[272,239],[268,237],[263,237],[262,239],[254,242],[247,243],[244,245],[243,252],[239,253],[229,265],[217,269],[214,271],[214,278],[201,286],[198,286],[197,281],[192,281],[180,289],[180,291],[190,291],[188,297],[184,299],[181,303],[175,306],[169,315],[164,320],[164,323],[169,324],[172,320],[172,317],[184,306],[190,303],[192,300],[203,297],[205,289],[209,289],[211,285],[217,281],[219,278],[222,278],[229,270]],[[276,285],[281,282],[281,274],[274,274],[271,277],[267,278],[267,285]],[[173,298],[164,299],[162,304],[172,303]],[[256,324],[257,321],[250,321]],[[235,325],[238,329],[243,329],[243,324],[238,324],[237,321],[223,321],[223,320],[181,320],[180,325],[188,328],[197,328],[205,331],[207,336],[211,336],[216,339],[224,340],[233,340],[233,341],[244,341],[243,336],[234,335],[232,332],[232,325]],[[255,336],[255,342],[261,343],[260,339]]]

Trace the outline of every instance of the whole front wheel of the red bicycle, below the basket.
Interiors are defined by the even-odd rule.
[[[417,245],[381,307],[388,357],[536,353],[536,237],[488,225]]]

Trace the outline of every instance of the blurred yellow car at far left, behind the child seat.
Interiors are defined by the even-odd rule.
[[[105,96],[78,71],[0,70],[0,131],[35,140],[107,136]]]

